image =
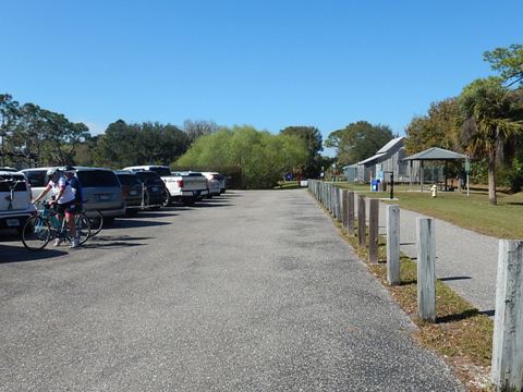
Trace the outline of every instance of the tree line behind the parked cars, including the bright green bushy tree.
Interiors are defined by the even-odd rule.
[[[34,103],[0,95],[1,166],[94,166],[120,169],[163,164],[215,170],[242,188],[275,186],[285,174],[317,177],[329,164],[314,126],[289,126],[277,135],[253,126],[219,126],[186,120],[183,126],[118,120],[93,136],[83,123]],[[327,163],[326,163],[327,162]]]

